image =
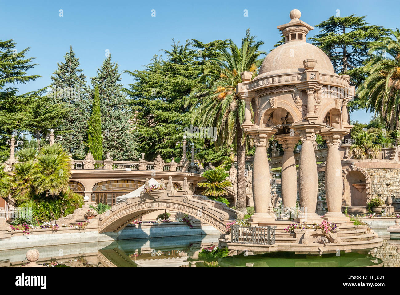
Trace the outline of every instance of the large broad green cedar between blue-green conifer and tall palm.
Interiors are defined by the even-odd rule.
[[[174,41],[171,51],[164,50],[165,60],[155,55],[146,70],[125,71],[136,80],[124,91],[132,98],[138,149],[148,159],[158,152],[164,157],[182,154],[176,142],[182,140],[184,127],[191,123],[184,101],[202,73],[198,52],[190,45],[188,40],[184,45]]]

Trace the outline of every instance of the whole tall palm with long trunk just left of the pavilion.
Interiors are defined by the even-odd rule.
[[[213,126],[217,130],[216,146],[236,146],[238,176],[236,209],[247,214],[246,180],[244,176],[246,156],[246,135],[243,132],[244,109],[246,103],[236,95],[236,86],[242,82],[241,72],[253,72],[256,75],[264,58],[258,48],[264,42],[254,42],[254,36],[248,31],[238,48],[232,40],[228,48],[218,47],[220,58],[212,58],[204,71],[210,81],[192,90],[191,97],[198,98],[192,106],[193,123],[200,126]]]

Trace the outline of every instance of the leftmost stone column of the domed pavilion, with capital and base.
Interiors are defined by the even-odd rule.
[[[251,216],[252,223],[275,221],[274,212],[272,211],[270,171],[267,154],[268,138],[275,133],[276,130],[274,128],[258,129],[250,133],[254,139],[254,146],[256,146],[252,179],[255,213]]]

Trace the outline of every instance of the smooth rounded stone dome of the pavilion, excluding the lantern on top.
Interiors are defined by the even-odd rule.
[[[316,60],[316,67],[322,74],[334,74],[328,56],[317,46],[306,42],[288,42],[272,50],[262,62],[259,76],[304,72],[304,60]]]

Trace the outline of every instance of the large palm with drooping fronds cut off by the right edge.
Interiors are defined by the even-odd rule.
[[[370,73],[358,88],[358,96],[366,102],[367,110],[379,113],[393,130],[396,146],[399,138],[400,116],[400,31],[392,30],[392,37],[382,38],[380,44],[371,48],[365,69]]]

